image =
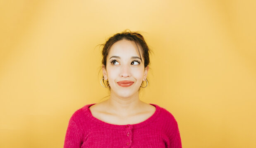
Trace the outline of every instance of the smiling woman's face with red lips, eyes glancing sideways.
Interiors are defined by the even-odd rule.
[[[142,58],[132,41],[123,39],[112,45],[106,69],[103,66],[103,76],[105,80],[108,79],[111,93],[125,98],[138,92],[148,74],[148,66],[144,68]]]

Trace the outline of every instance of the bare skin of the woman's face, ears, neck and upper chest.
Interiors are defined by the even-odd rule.
[[[111,58],[119,56],[119,58]],[[107,123],[124,125],[140,123],[153,115],[156,108],[139,99],[139,87],[146,81],[148,66],[144,67],[144,59],[139,57],[134,42],[120,40],[112,45],[106,67],[103,65],[104,80],[109,81],[110,98],[90,107],[92,115]],[[116,60],[115,62],[111,60]],[[134,60],[139,60],[141,63]],[[134,81],[132,86],[121,87],[118,81]]]

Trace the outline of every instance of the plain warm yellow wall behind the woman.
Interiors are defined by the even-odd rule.
[[[141,100],[183,148],[256,148],[255,0],[0,2],[0,147],[61,148],[72,113],[105,100],[97,45],[125,29],[153,50]]]

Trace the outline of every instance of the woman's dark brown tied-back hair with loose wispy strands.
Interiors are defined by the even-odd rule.
[[[117,34],[113,35],[112,37],[110,37],[105,44],[101,44],[101,45],[103,45],[102,64],[105,66],[105,68],[107,65],[107,56],[108,56],[111,46],[115,42],[118,42],[123,39],[132,41],[136,44],[137,49],[139,51],[140,58],[141,58],[141,52],[142,52],[143,59],[144,59],[144,67],[147,67],[150,64],[149,53],[151,53],[152,51],[148,48],[148,45],[146,44],[144,37],[141,34],[139,34],[138,32],[131,32],[130,30],[124,30],[124,32],[117,33]],[[141,51],[139,49],[141,49]],[[104,76],[103,76],[103,78],[104,78]],[[147,79],[147,81],[148,81],[148,79]],[[105,83],[104,79],[103,79],[103,83],[105,84],[105,86],[109,86],[108,80]],[[139,90],[140,90],[140,88],[139,88]],[[109,89],[110,89],[110,87],[109,87]]]

